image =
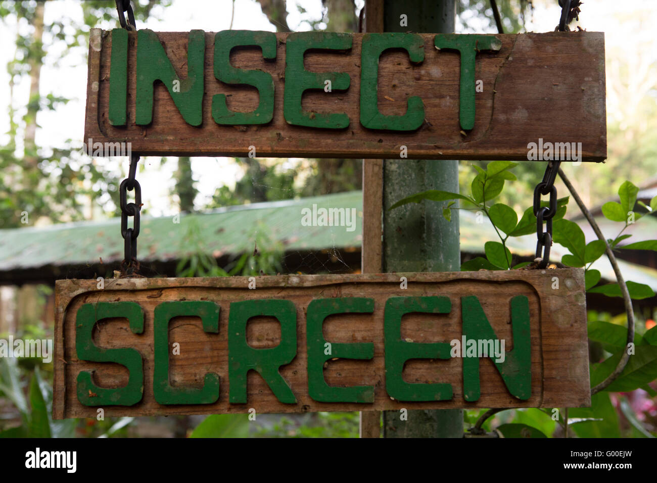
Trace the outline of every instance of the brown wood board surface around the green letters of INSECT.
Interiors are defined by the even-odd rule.
[[[179,76],[187,75],[186,32],[157,34]],[[484,91],[476,93],[474,129],[466,135],[459,125],[460,57],[456,51],[438,51],[434,34],[424,39],[424,61],[411,64],[405,51],[390,49],[379,62],[378,108],[385,115],[402,115],[407,99],[419,96],[426,119],[411,132],[366,129],[359,122],[361,43],[353,34],[346,53],[309,51],[306,70],[346,72],[346,91],[306,91],[304,111],[346,113],[346,129],[292,126],[283,117],[285,44],[288,34],[277,35],[277,57],[264,60],[255,47],[238,47],[232,65],[259,69],[272,75],[275,85],[274,115],[269,124],[223,126],[212,118],[212,97],[223,93],[227,107],[250,112],[258,106],[254,87],[221,83],[214,77],[214,33],[206,32],[202,124],[185,123],[166,87],[156,81],[152,124],[135,124],[136,41],[129,32],[127,124],[112,126],[108,120],[111,35],[94,29],[89,49],[89,77],[85,143],[131,142],[132,152],[142,155],[301,156],[319,158],[399,158],[406,146],[408,158],[527,160],[528,143],[539,138],[551,143],[581,142],[582,160],[606,158],[604,34],[601,32],[551,32],[496,35],[497,53],[476,56],[475,79]],[[101,47],[102,46],[102,47]]]

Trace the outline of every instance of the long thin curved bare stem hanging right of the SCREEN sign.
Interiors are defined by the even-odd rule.
[[[570,183],[568,177],[566,177],[566,175],[564,174],[561,168],[559,168],[559,176],[564,181],[564,185],[566,185],[568,191],[570,191],[570,194],[573,196],[575,202],[578,204],[579,210],[581,210],[582,214],[589,221],[589,224],[591,225],[591,228],[593,228],[593,231],[595,231],[595,234],[604,243],[604,251],[606,252],[607,257],[609,258],[610,264],[612,264],[612,267],[614,268],[614,273],[616,273],[616,279],[618,280],[618,286],[620,287],[620,292],[623,296],[623,302],[625,302],[625,312],[627,312],[627,346],[629,347],[629,344],[634,343],[634,310],[632,308],[632,299],[629,296],[627,285],[625,285],[623,274],[620,273],[620,268],[618,267],[618,262],[616,262],[616,257],[614,256],[614,252],[609,246],[606,238],[604,238],[604,235],[602,235],[602,231],[600,231],[600,227],[595,222],[593,215],[591,215],[589,209],[585,206],[581,198],[579,198],[577,191],[575,191],[575,188]],[[609,384],[614,382],[614,380],[618,377],[618,375],[620,375],[620,373],[623,372],[623,369],[625,369],[625,365],[627,365],[627,361],[629,361],[629,357],[630,357],[629,352],[627,350],[623,351],[623,355],[621,356],[620,361],[618,361],[618,365],[616,366],[616,369],[614,369],[614,372],[612,372],[607,377],[607,379],[600,382],[600,384],[591,388],[591,395],[600,392],[601,390],[606,388]]]

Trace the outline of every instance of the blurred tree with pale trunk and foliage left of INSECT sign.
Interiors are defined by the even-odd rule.
[[[148,0],[135,10],[137,21],[143,22],[155,5],[170,5],[171,0]],[[57,43],[64,53],[75,48],[86,50],[89,30],[100,20],[116,19],[113,2],[92,0],[81,3],[83,22],[64,17],[44,24],[49,2],[0,1],[0,22],[15,23],[14,58],[7,64],[9,72],[9,142],[0,146],[0,227],[32,224],[40,217],[52,221],[83,219],[83,202],[107,209],[110,201],[118,206],[118,179],[101,168],[93,158],[81,154],[68,140],[63,147],[44,149],[36,143],[42,110],[57,110],[68,99],[53,93],[42,95],[41,66],[45,53]],[[47,37],[51,45],[44,45]],[[29,79],[26,107],[14,99],[16,85]],[[16,107],[18,104],[18,107]],[[24,114],[20,116],[20,112]],[[19,117],[20,116],[20,117]],[[98,196],[99,193],[105,196]],[[110,195],[110,196],[106,196]]]

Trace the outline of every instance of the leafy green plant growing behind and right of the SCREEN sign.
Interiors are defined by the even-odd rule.
[[[503,203],[491,204],[491,200],[499,196],[505,185],[505,181],[514,181],[515,175],[510,171],[516,163],[509,161],[489,162],[486,169],[474,165],[478,171],[470,185],[470,195],[449,193],[447,191],[430,190],[416,195],[408,196],[397,201],[390,209],[397,208],[403,204],[422,201],[434,201],[445,203],[443,216],[451,219],[453,209],[477,210],[485,215],[499,237],[499,241],[487,241],[484,244],[484,257],[468,260],[461,265],[462,271],[472,270],[509,270],[519,269],[530,262],[512,265],[512,255],[507,248],[509,237],[520,237],[530,235],[536,230],[536,216],[533,207],[527,208],[520,219],[510,206]],[[657,196],[652,198],[650,206],[643,202],[637,203],[639,189],[629,181],[625,181],[618,189],[620,202],[607,202],[602,206],[602,214],[611,221],[621,223],[618,234],[614,239],[608,239],[609,246],[618,250],[656,250],[657,240],[639,241],[621,245],[620,243],[629,239],[631,235],[623,233],[629,225],[636,223],[645,216],[652,216],[657,211]],[[553,239],[556,243],[568,250],[562,259],[562,265],[567,267],[582,267],[585,270],[585,286],[588,294],[604,294],[609,297],[621,297],[621,289],[618,283],[600,284],[601,274],[593,264],[604,254],[605,245],[601,240],[586,242],[581,228],[574,221],[565,219],[568,197],[560,198],[557,202],[557,212],[553,218]],[[457,206],[457,202],[461,206]],[[637,212],[635,207],[641,206],[645,211]],[[547,202],[543,202],[547,206]],[[654,297],[655,293],[648,285],[627,281],[627,289],[631,298],[640,300]],[[565,434],[566,426],[573,426],[574,432],[580,437],[618,437],[622,435],[620,428],[620,417],[631,427],[634,436],[654,438],[655,426],[652,432],[646,430],[641,419],[646,415],[635,412],[630,400],[643,398],[647,394],[655,398],[655,380],[657,380],[657,327],[645,331],[644,327],[637,327],[637,336],[634,346],[627,347],[627,319],[611,323],[600,320],[597,313],[589,311],[588,333],[589,340],[600,349],[591,350],[592,354],[600,354],[600,359],[591,363],[591,386],[594,387],[605,380],[614,371],[623,352],[630,350],[633,354],[622,373],[604,390],[593,394],[590,408],[572,408],[558,411],[539,409],[517,409],[515,417],[507,418],[505,424],[499,426],[499,430],[506,437],[544,437],[552,434],[556,423],[560,425],[562,434]],[[646,407],[657,409],[654,402]],[[484,411],[485,412],[485,411]],[[473,423],[481,417],[484,412],[466,411],[466,423]],[[547,415],[547,423],[537,421]],[[540,416],[540,417],[539,417]],[[556,421],[556,423],[555,423]],[[489,426],[482,426],[484,428]]]

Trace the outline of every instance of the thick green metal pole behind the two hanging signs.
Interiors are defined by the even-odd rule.
[[[455,0],[384,0],[385,32],[454,32]],[[402,21],[406,16],[407,23]],[[388,211],[405,196],[439,189],[459,191],[457,160],[384,160],[383,269],[400,271],[459,271],[459,215],[443,218],[435,202],[407,204]],[[384,438],[462,438],[463,410],[384,411]]]

